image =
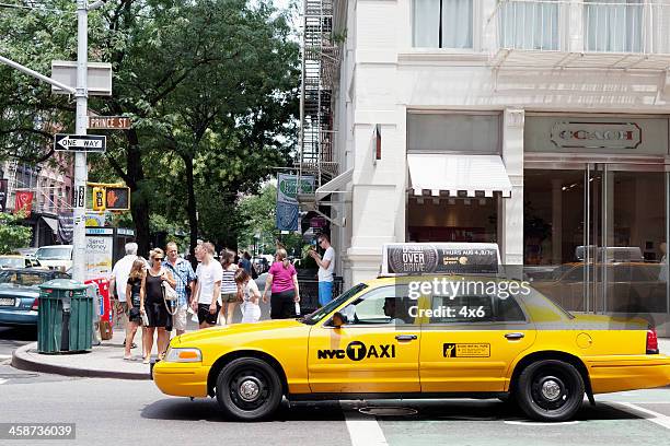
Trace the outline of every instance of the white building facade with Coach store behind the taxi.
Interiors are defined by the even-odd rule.
[[[346,284],[393,242],[495,242],[568,309],[670,332],[670,3],[349,0],[332,85]],[[543,284],[541,284],[542,282]]]

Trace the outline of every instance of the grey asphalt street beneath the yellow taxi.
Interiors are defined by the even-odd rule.
[[[668,444],[670,435],[670,388],[603,396],[594,408],[585,402],[575,422],[557,424],[528,422],[497,400],[286,403],[272,420],[239,423],[211,399],[168,397],[151,382],[0,374],[1,422],[76,423],[73,445],[613,446]]]

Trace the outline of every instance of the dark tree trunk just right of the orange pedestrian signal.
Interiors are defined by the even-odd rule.
[[[128,173],[128,187],[132,192],[130,200],[130,213],[135,223],[135,238],[138,244],[138,255],[148,256],[150,247],[149,235],[149,203],[143,193],[139,193],[139,186],[145,179],[142,168],[142,153],[139,148],[139,140],[135,130],[128,131],[128,156],[126,172]]]

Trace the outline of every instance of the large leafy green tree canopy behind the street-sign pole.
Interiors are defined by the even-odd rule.
[[[39,4],[0,16],[0,47],[48,72],[51,59],[74,60],[76,20],[46,10],[73,12],[69,0]],[[107,134],[91,176],[113,172],[130,187],[140,253],[152,212],[187,220],[194,246],[198,196],[215,188],[234,206],[238,191],[255,191],[270,166],[289,162],[299,74],[289,34],[267,0],[116,0],[91,12],[90,60],[112,62],[114,94],[90,97],[90,108],[135,122]],[[72,129],[73,110],[48,85],[0,68],[0,157],[48,159],[51,133]]]

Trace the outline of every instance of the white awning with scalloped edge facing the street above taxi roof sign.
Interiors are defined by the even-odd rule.
[[[493,197],[511,196],[511,183],[499,155],[447,155],[412,153],[407,155],[409,184],[415,196]]]

